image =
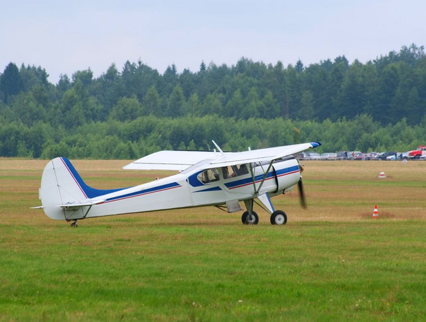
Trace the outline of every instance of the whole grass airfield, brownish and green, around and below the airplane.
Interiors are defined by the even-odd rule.
[[[45,164],[0,159],[0,321],[425,319],[426,162],[306,161],[308,210],[273,199],[285,226],[211,207],[77,229],[29,209]],[[73,164],[96,188],[168,175]]]

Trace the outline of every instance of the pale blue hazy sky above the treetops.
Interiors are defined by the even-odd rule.
[[[241,57],[305,66],[366,63],[426,45],[425,0],[14,0],[0,3],[0,73],[14,62],[60,75],[143,62],[159,73]]]

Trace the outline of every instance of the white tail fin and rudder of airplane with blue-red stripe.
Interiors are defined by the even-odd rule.
[[[112,193],[114,190],[98,190],[85,184],[76,168],[64,158],[55,158],[46,165],[42,175],[39,199],[44,213],[55,220],[71,220],[84,217],[83,208],[103,202],[90,199]],[[83,215],[79,215],[79,211]]]

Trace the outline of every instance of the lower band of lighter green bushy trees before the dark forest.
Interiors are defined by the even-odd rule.
[[[213,150],[212,138],[229,151],[321,141],[318,152],[402,152],[426,142],[426,124],[409,126],[404,118],[384,127],[366,115],[321,123],[283,118],[141,116],[126,122],[88,123],[70,130],[43,122],[28,126],[15,121],[0,129],[0,154],[42,159],[138,159],[159,150]]]

